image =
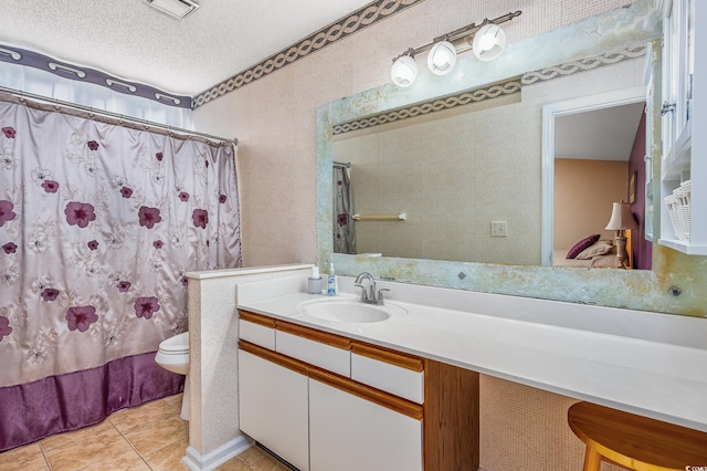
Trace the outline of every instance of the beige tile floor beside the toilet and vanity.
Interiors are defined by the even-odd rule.
[[[119,410],[85,429],[0,452],[2,471],[184,471],[189,427],[179,418],[181,395]],[[218,471],[287,471],[257,447]]]

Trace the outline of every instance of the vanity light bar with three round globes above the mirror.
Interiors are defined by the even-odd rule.
[[[452,72],[456,65],[456,54],[474,50],[474,54],[482,61],[490,61],[500,54],[506,46],[506,33],[498,27],[520,15],[520,11],[510,12],[493,20],[485,19],[481,24],[472,23],[452,31],[431,43],[418,49],[408,49],[395,59],[390,69],[390,77],[398,86],[410,86],[418,77],[416,54],[429,51],[428,67],[435,75]]]

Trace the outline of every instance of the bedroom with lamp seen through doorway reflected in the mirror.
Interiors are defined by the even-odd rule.
[[[651,269],[637,188],[644,108],[633,103],[556,118],[553,265]]]

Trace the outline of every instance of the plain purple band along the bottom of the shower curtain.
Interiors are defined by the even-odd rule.
[[[0,388],[0,451],[103,421],[119,409],[181,393],[184,377],[155,352]]]

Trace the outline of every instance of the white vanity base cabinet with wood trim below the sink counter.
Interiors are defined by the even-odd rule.
[[[241,430],[300,471],[478,468],[477,373],[239,314]]]

